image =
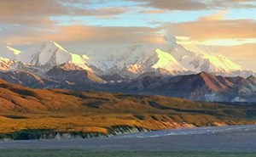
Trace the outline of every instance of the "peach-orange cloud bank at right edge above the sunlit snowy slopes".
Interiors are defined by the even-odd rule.
[[[192,41],[213,39],[255,38],[255,20],[197,20],[166,25],[175,36],[189,36]]]

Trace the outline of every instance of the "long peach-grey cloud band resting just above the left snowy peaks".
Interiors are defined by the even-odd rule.
[[[81,42],[97,44],[112,43],[161,43],[165,42],[158,28],[150,27],[102,27],[90,25],[67,25],[55,27],[53,31],[32,31],[24,28],[24,33],[2,36],[3,42],[13,44],[37,43],[54,40],[56,42]],[[8,34],[8,33],[7,33]]]

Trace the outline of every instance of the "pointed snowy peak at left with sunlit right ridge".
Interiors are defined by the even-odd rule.
[[[17,56],[17,60],[26,64],[49,67],[68,62],[76,64],[84,70],[92,71],[79,54],[68,53],[61,45],[52,41],[44,42],[43,44],[22,51]]]

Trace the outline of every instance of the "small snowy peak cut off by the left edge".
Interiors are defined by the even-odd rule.
[[[6,59],[16,59],[16,56],[20,53],[19,50],[15,48],[11,48],[9,46],[0,46],[0,57],[6,58]]]

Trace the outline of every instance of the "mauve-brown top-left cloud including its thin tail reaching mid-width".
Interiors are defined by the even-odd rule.
[[[1,0],[0,24],[54,25],[51,17],[97,16],[106,18],[129,11],[125,7],[90,8],[91,2],[79,0]],[[79,6],[81,5],[81,6]]]

